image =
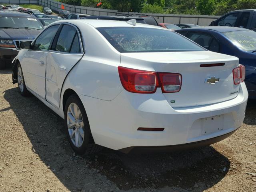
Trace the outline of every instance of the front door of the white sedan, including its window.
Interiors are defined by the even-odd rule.
[[[45,98],[46,60],[50,44],[59,25],[46,29],[36,38],[32,49],[24,56],[22,67],[26,71],[26,86],[41,98]]]

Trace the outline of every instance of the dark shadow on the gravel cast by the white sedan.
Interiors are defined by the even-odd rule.
[[[34,96],[20,96],[18,88],[6,90],[4,98],[24,127],[35,153],[72,192],[86,188],[88,180],[97,180],[99,174],[123,190],[169,186],[202,191],[218,183],[230,167],[229,160],[211,146],[143,155],[105,148],[96,155],[76,156],[64,134],[64,121],[52,110]]]

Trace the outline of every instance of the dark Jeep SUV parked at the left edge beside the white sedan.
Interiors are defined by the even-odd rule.
[[[0,69],[12,60],[20,50],[20,42],[33,41],[44,27],[30,14],[0,10]]]

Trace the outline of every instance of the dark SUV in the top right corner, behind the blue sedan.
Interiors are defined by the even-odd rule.
[[[211,22],[210,26],[240,27],[256,31],[256,9],[228,12]]]

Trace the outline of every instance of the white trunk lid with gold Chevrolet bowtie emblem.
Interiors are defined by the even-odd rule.
[[[210,51],[122,53],[120,66],[181,74],[181,90],[163,93],[173,108],[230,100],[240,87],[234,85],[232,73],[239,66],[238,58]]]

